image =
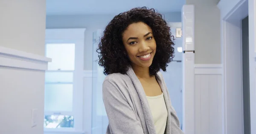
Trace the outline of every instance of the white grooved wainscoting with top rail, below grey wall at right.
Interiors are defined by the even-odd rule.
[[[221,64],[195,64],[195,134],[222,134]]]

